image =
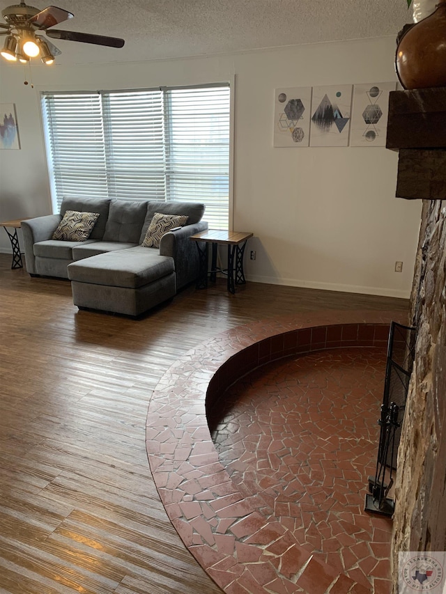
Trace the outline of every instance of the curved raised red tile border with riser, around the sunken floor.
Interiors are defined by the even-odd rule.
[[[236,327],[190,350],[157,384],[146,426],[155,485],[186,547],[226,594],[303,592],[300,584],[310,574],[318,575],[322,594],[323,584],[339,574],[240,494],[215,451],[206,407],[211,414],[229,385],[270,361],[337,347],[383,347],[392,320],[406,322],[395,312],[332,311]],[[344,592],[353,584],[345,575],[336,581]],[[355,585],[357,594],[368,591]]]

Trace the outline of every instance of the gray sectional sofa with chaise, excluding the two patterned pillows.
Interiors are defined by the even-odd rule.
[[[22,221],[26,269],[31,276],[70,279],[79,308],[138,316],[197,279],[199,258],[189,237],[208,224],[201,203],[64,198],[60,214]],[[82,242],[53,240],[67,210],[97,212]],[[142,247],[155,212],[187,215],[185,226]]]

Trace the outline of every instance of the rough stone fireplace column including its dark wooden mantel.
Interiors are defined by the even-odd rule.
[[[446,88],[390,95],[397,196],[423,198],[409,320],[417,342],[395,485],[397,594],[399,552],[446,551]]]

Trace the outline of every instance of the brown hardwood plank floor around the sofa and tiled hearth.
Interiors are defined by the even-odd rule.
[[[151,393],[197,343],[247,321],[404,299],[224,281],[142,320],[78,311],[70,283],[0,254],[0,593],[216,594],[153,484]]]

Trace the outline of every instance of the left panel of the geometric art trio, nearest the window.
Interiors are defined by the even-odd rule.
[[[274,146],[309,146],[312,87],[276,88]]]

